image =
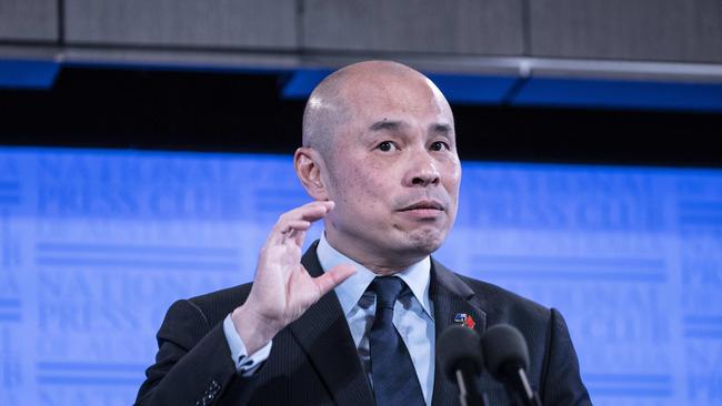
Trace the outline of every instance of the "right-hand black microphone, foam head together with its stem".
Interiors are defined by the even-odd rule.
[[[487,369],[501,380],[524,406],[541,406],[541,399],[527,377],[529,348],[519,329],[509,324],[489,327],[481,338]]]

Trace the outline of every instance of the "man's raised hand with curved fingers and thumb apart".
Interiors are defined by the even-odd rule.
[[[321,296],[355,271],[339,265],[311,277],[301,265],[301,248],[311,223],[333,210],[333,202],[311,202],[283,213],[259,254],[253,287],[245,303],[231,314],[249,354],[299,318]]]

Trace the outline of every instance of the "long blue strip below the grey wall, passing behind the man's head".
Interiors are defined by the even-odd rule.
[[[298,70],[281,94],[305,99],[329,73]],[[428,74],[454,104],[722,112],[722,83]]]

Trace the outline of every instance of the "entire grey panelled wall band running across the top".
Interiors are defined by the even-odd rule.
[[[181,61],[211,50],[720,63],[722,0],[0,0],[0,58],[59,37],[74,52]]]

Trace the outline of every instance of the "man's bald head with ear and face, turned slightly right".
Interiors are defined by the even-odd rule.
[[[451,229],[461,165],[453,115],[439,89],[395,62],[345,67],[311,93],[299,179],[332,200],[327,238],[382,273],[435,251]]]

